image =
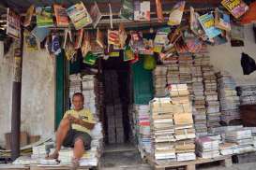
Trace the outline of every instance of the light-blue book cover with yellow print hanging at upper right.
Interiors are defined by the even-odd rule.
[[[209,38],[213,38],[221,34],[221,31],[214,25],[214,16],[212,13],[206,13],[198,18],[205,34]]]

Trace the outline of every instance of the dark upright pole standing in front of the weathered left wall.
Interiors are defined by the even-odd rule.
[[[21,31],[21,39],[18,40],[14,48],[12,106],[11,106],[11,137],[10,137],[12,161],[14,161],[20,156],[22,68],[23,68],[23,29]]]

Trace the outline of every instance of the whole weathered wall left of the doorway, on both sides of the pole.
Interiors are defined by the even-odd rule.
[[[10,132],[13,50],[3,57],[0,42],[0,146]],[[23,50],[22,131],[51,135],[54,131],[55,63],[46,50]]]

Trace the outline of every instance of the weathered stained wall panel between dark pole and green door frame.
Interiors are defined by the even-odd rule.
[[[22,130],[50,135],[54,130],[54,60],[46,50],[23,51]]]

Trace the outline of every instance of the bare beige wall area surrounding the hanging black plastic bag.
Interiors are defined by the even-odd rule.
[[[256,71],[246,76],[241,67],[241,52],[244,51],[256,61],[256,43],[252,25],[245,26],[245,47],[231,47],[230,43],[219,46],[208,46],[211,64],[217,70],[231,73],[237,85],[256,84]]]

